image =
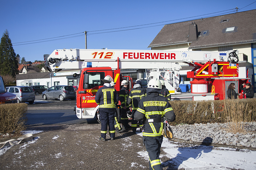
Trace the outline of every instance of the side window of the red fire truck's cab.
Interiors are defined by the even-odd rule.
[[[88,88],[93,88],[95,86],[104,84],[104,82],[101,81],[101,79],[104,79],[105,77],[104,72],[93,72],[93,73],[86,73],[86,74],[89,74]]]

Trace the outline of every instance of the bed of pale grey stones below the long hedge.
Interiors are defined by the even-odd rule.
[[[245,133],[229,132],[227,123],[171,126],[174,138],[193,142],[256,148],[256,122],[245,122]]]

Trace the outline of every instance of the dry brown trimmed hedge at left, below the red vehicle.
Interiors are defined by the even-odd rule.
[[[0,105],[0,133],[20,134],[27,122],[27,104],[13,103]]]

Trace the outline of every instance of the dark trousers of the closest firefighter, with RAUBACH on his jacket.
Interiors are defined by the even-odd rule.
[[[149,169],[162,170],[160,162],[160,148],[163,142],[163,136],[150,137],[143,136],[146,150],[149,157]]]

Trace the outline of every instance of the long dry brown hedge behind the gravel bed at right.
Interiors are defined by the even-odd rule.
[[[242,121],[256,121],[256,99],[175,100],[169,103],[176,115],[171,125],[225,123],[234,117]]]

